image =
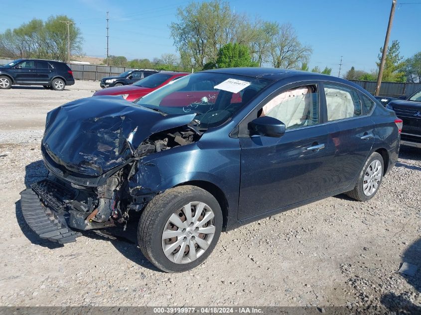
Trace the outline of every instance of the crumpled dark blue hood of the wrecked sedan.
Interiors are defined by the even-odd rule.
[[[66,169],[99,176],[136,157],[151,134],[186,125],[194,116],[161,114],[115,96],[76,100],[48,112],[42,147]]]

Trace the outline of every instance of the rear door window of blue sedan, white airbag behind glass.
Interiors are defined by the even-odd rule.
[[[324,84],[327,120],[339,120],[362,115],[361,102],[356,91],[342,86]]]

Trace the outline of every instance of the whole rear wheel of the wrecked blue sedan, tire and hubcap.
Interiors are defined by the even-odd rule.
[[[358,201],[368,201],[376,195],[383,181],[383,157],[374,152],[367,159],[355,188],[346,194]]]

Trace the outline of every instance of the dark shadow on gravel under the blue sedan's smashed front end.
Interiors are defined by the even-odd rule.
[[[44,166],[42,160],[32,162],[25,167],[25,186],[29,188],[33,183],[36,183],[47,176],[47,169]],[[20,230],[26,236],[26,238],[32,243],[42,247],[47,247],[50,249],[63,247],[64,245],[51,242],[49,240],[44,240],[40,238],[31,228],[26,224],[25,219],[23,218],[22,209],[20,207],[20,200],[15,203],[16,210],[16,220],[19,224]],[[103,231],[80,231],[83,236],[98,239],[98,240],[108,240],[111,244],[127,259],[130,259],[135,264],[140,265],[143,268],[147,268],[153,271],[159,271],[155,266],[153,266],[142,254],[138,248],[138,239],[137,239],[137,228],[138,221],[140,218],[140,213],[134,213],[131,215],[131,221],[127,224],[126,231],[123,231],[123,227],[115,227],[112,229],[107,229]],[[78,239],[76,239],[76,242]]]

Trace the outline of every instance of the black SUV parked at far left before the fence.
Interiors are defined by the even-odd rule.
[[[75,84],[72,70],[64,62],[41,59],[17,59],[0,67],[0,89],[12,85],[42,85],[45,89],[64,90]]]

